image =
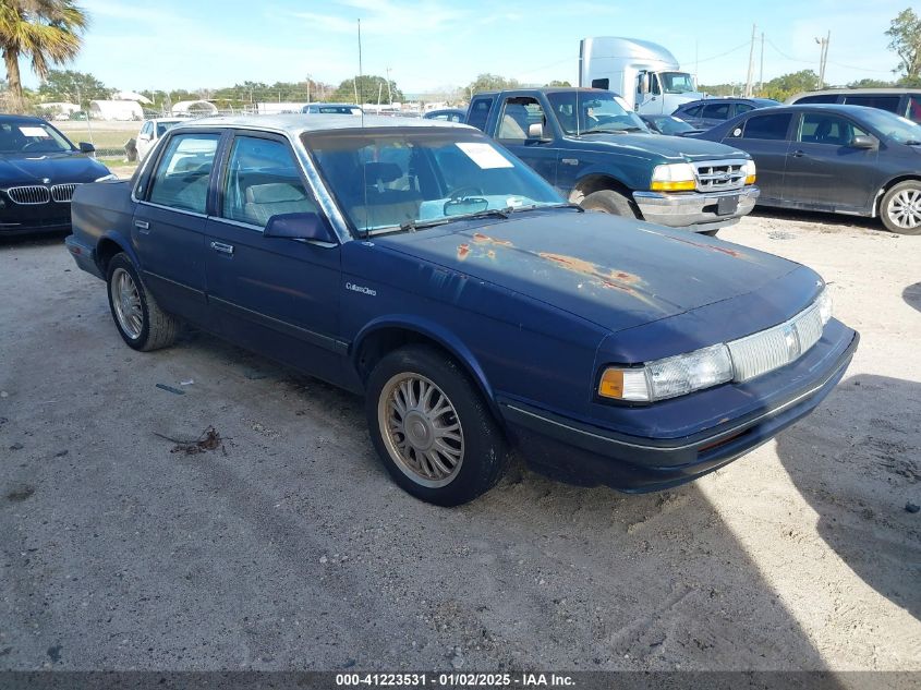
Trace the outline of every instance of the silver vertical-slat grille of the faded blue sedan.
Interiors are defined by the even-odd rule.
[[[778,326],[726,344],[732,355],[734,380],[744,382],[798,360],[822,338],[819,304]]]

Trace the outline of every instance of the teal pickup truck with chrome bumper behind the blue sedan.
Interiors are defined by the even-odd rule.
[[[715,234],[758,199],[747,153],[653,134],[617,94],[521,88],[477,94],[468,124],[590,210]]]

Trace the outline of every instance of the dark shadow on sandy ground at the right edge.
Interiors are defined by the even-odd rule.
[[[887,414],[868,415],[876,398]],[[803,449],[812,449],[810,467]],[[906,510],[921,504],[921,384],[849,378],[780,435],[777,452],[825,542],[867,584],[921,616],[921,513]]]

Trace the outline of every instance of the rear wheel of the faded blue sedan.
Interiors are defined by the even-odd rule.
[[[112,318],[129,347],[148,352],[173,343],[179,322],[159,307],[123,252],[109,262],[106,282]]]

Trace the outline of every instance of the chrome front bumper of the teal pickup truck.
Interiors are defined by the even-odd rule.
[[[724,228],[739,221],[751,213],[761,191],[754,185],[728,192],[633,192],[633,201],[640,207],[643,219],[671,228],[687,228],[693,232],[705,232]],[[734,210],[723,215],[723,204],[738,197]],[[730,204],[731,206],[731,204]]]

